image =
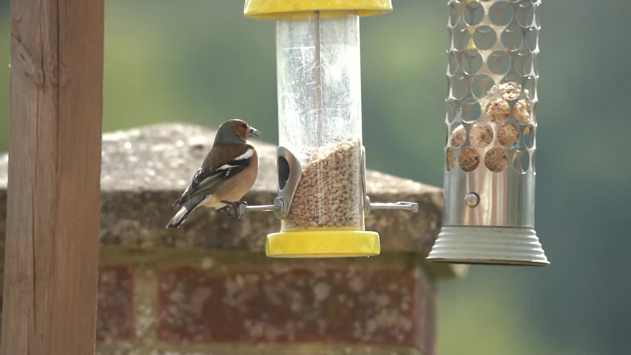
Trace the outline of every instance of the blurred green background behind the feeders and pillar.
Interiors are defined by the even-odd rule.
[[[242,118],[277,142],[273,21],[244,18],[240,0],[106,3],[105,131]],[[447,1],[393,3],[361,25],[367,164],[442,186]],[[551,266],[442,284],[440,354],[629,353],[630,14],[627,0],[543,2],[536,229]],[[0,64],[6,150],[9,0]]]

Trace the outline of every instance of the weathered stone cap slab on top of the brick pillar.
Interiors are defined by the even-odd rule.
[[[156,124],[103,134],[101,243],[264,252],[266,235],[280,228],[280,220],[271,212],[248,212],[237,220],[204,208],[179,229],[165,229],[175,213],[171,203],[189,184],[215,133],[191,124]],[[253,142],[259,152],[259,175],[244,200],[249,205],[269,205],[276,196],[276,146]],[[5,153],[0,155],[0,241],[6,224],[7,168]],[[382,253],[417,253],[424,259],[440,230],[442,190],[368,170],[367,193],[372,202],[419,204],[418,214],[374,210],[365,225],[379,232]],[[465,265],[431,265],[444,276],[466,271]]]

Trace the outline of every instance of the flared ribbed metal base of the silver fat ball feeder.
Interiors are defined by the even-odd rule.
[[[432,247],[431,262],[548,266],[533,228],[445,226]]]

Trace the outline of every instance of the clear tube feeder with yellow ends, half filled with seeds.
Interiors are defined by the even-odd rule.
[[[366,195],[359,18],[391,9],[389,0],[245,2],[245,16],[276,20],[278,197],[242,207],[281,219],[268,256],[379,255],[379,235],[364,227],[370,209],[418,211]]]

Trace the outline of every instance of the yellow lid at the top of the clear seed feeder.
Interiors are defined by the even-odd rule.
[[[302,11],[357,11],[372,16],[392,11],[392,0],[245,0],[244,15],[278,19]]]

